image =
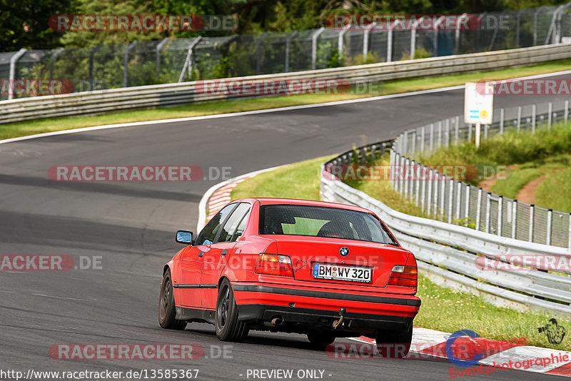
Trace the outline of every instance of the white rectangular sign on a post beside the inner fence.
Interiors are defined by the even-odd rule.
[[[464,90],[464,121],[476,124],[476,148],[480,147],[480,125],[492,124],[494,85],[467,82]]]

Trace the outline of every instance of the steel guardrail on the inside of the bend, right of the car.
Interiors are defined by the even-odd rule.
[[[378,157],[391,143],[385,141],[357,148],[323,164],[321,198],[373,210],[395,233],[401,245],[415,254],[420,273],[438,284],[475,293],[496,305],[571,316],[570,277],[537,268],[482,270],[476,265],[477,258],[497,260],[502,255],[540,258],[548,255],[556,260],[563,258],[569,263],[571,250],[406,215],[351,188],[330,173],[331,166],[364,163],[367,157]],[[571,273],[569,270],[562,272]]]

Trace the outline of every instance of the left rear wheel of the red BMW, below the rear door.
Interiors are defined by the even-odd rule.
[[[238,321],[238,305],[228,279],[224,279],[218,288],[216,301],[216,337],[221,341],[242,341],[248,336],[246,322]]]

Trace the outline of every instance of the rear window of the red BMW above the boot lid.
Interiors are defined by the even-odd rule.
[[[312,205],[262,205],[260,234],[343,238],[398,245],[374,215]]]

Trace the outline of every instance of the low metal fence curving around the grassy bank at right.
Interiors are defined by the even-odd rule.
[[[550,129],[554,123],[569,121],[569,106],[566,100],[500,108],[494,111],[493,123],[480,133],[482,138],[490,138],[508,129]],[[391,168],[400,168],[403,175],[391,176],[391,185],[432,218],[502,237],[571,248],[571,213],[484,191],[412,159],[473,138],[475,126],[465,124],[460,116],[405,131],[395,140],[390,157]],[[470,166],[461,167],[469,178]]]

